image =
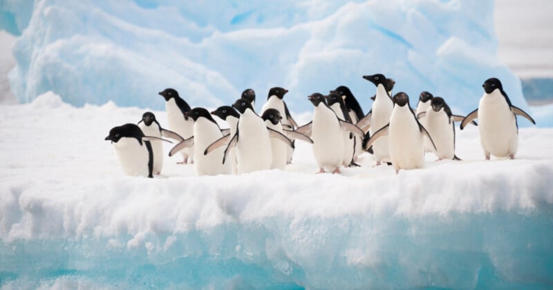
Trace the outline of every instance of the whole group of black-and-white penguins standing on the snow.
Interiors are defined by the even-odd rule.
[[[182,164],[194,164],[197,176],[242,174],[268,169],[283,170],[292,162],[296,140],[312,144],[318,173],[340,173],[341,166],[359,166],[357,157],[373,154],[376,166],[392,165],[400,169],[422,168],[424,154],[433,152],[438,160],[460,160],[455,154],[455,125],[462,130],[468,124],[478,126],[480,144],[486,160],[490,155],[514,158],[518,148],[516,115],[534,119],[513,106],[499,79],[487,79],[484,94],[476,110],[466,117],[453,115],[442,97],[420,93],[415,109],[409,96],[396,93],[393,79],[382,74],[364,75],[376,86],[371,110],[365,114],[348,87],[339,86],[328,95],[313,93],[308,100],[315,106],[313,119],[298,126],[283,97],[288,90],[274,87],[261,109],[254,110],[254,90],[244,90],[232,106],[209,112],[191,108],[176,90],[159,93],[165,99],[169,130],[162,128],[151,112],[138,124],[111,129],[105,138],[126,175],[153,177],[163,166],[162,142],[174,139],[169,156],[180,153]],[[229,128],[221,129],[214,117]],[[474,119],[478,118],[478,124]]]

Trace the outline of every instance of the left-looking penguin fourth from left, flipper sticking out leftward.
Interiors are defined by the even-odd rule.
[[[223,137],[221,128],[208,110],[205,108],[193,108],[185,113],[186,117],[194,120],[194,135],[174,146],[169,156],[182,150],[185,147],[194,148],[194,171],[196,176],[229,174],[232,172],[230,163],[221,163],[223,148],[218,148],[210,155],[204,155],[205,148]]]

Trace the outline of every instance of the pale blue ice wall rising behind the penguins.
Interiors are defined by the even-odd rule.
[[[12,17],[0,28],[21,26],[32,6],[6,7],[1,15]],[[284,86],[302,112],[307,95],[341,84],[368,110],[375,88],[361,76],[383,72],[413,105],[429,90],[468,113],[483,81],[498,77],[527,108],[521,82],[496,57],[493,10],[492,0],[35,1],[10,82],[21,101],[53,90],[77,106],[154,109],[167,87],[191,106],[218,106],[245,88],[265,99]]]

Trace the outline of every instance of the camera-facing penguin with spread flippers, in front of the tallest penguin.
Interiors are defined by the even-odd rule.
[[[393,96],[394,107],[390,122],[376,131],[366,146],[373,145],[378,139],[388,135],[390,160],[395,173],[400,169],[415,169],[424,167],[423,138],[432,138],[428,131],[418,122],[415,113],[409,106],[409,96],[400,92]],[[435,146],[433,146],[435,149]]]

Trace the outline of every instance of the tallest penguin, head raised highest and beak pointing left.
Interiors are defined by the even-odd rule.
[[[376,95],[371,111],[357,123],[357,126],[361,128],[368,127],[368,133],[372,136],[376,131],[390,122],[390,116],[392,115],[394,105],[388,94],[388,90],[386,90],[387,79],[384,75],[364,75],[363,78],[371,81],[371,83],[376,86]],[[365,150],[368,150],[368,148],[369,147],[365,146]],[[377,166],[380,165],[382,161],[390,162],[387,136],[382,137],[373,144],[373,153]]]

